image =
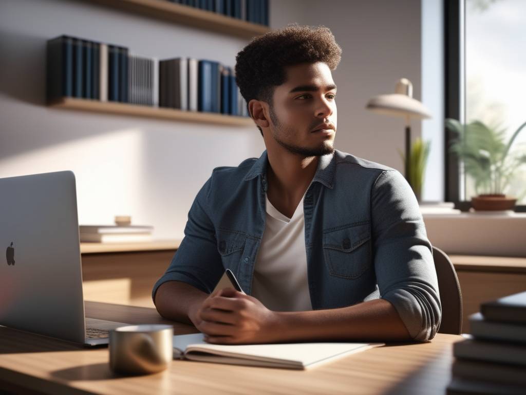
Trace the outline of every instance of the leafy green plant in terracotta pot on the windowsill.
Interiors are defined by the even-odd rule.
[[[466,174],[475,184],[477,196],[471,198],[475,210],[511,210],[517,199],[505,195],[514,172],[526,163],[526,153],[511,153],[510,148],[524,122],[505,142],[505,130],[490,127],[481,121],[462,125],[448,118],[446,127],[456,134],[450,151],[464,163]]]

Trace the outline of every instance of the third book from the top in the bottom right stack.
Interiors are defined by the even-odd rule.
[[[453,344],[453,355],[456,358],[526,366],[526,345],[511,342],[491,342],[470,337]]]

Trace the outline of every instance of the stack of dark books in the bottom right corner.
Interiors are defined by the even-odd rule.
[[[469,322],[469,338],[453,345],[448,393],[526,393],[526,292],[483,303]]]

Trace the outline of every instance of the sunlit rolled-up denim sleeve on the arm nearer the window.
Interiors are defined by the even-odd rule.
[[[398,171],[378,176],[371,210],[380,298],[395,307],[413,340],[431,340],[442,314],[437,272],[417,199]]]

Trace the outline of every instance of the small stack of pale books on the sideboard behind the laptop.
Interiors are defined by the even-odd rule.
[[[141,243],[152,240],[152,226],[80,225],[81,243]]]

